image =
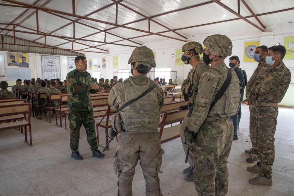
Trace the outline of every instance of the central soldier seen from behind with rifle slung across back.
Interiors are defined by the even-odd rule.
[[[109,93],[108,103],[115,111],[155,85],[146,76],[156,66],[151,49],[144,46],[135,48],[128,63],[131,63],[133,76],[113,86]],[[146,181],[146,195],[162,195],[158,172],[164,151],[157,130],[162,106],[163,91],[155,86],[146,96],[114,115],[113,123],[119,132],[116,139],[117,149],[113,155],[114,172],[118,177],[117,195],[133,195],[132,181],[139,159]],[[117,118],[121,119],[121,124],[116,123]]]

